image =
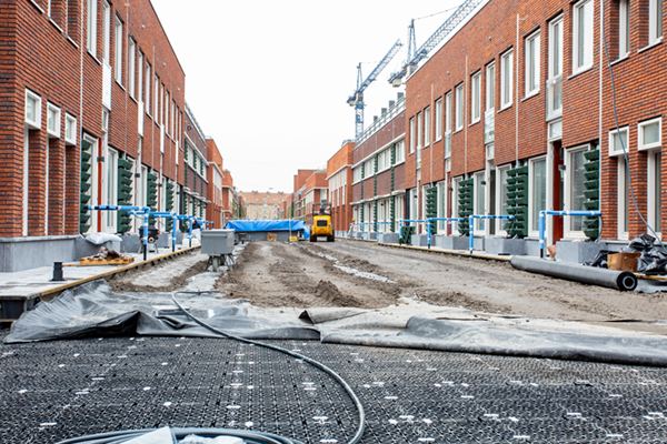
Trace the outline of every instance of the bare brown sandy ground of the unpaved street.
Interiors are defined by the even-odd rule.
[[[173,291],[205,272],[192,254],[111,281],[116,291]],[[207,273],[207,281],[212,282]],[[190,282],[190,285],[192,283]],[[248,243],[233,270],[213,285],[223,297],[259,307],[385,309],[450,306],[549,320],[580,321],[667,334],[664,293],[643,294],[584,285],[484,261],[359,241]]]

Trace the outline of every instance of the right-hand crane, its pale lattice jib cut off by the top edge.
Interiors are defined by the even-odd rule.
[[[408,59],[400,70],[389,77],[389,83],[394,87],[400,87],[402,79],[412,73],[412,70],[419,65],[428,53],[438,46],[451,31],[454,31],[480,3],[487,0],[466,0],[456,11],[428,38],[426,42],[415,51],[415,20],[410,21],[408,27]]]

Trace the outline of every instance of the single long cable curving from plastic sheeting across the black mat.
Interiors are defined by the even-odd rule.
[[[176,295],[177,294],[200,294],[200,293],[205,293],[205,292],[192,292],[192,291],[178,291],[175,292],[173,295],[171,296],[171,299],[173,300],[173,303],[180,309],[182,310],[183,313],[186,313],[186,315],[188,317],[190,317],[192,321],[195,321],[196,323],[198,323],[199,325],[203,326],[207,330],[210,330],[213,333],[217,333],[221,336],[225,337],[229,337],[232,340],[237,340],[240,342],[246,342],[248,344],[253,344],[253,345],[259,345],[266,349],[270,349],[270,350],[276,350],[278,352],[285,353],[289,356],[292,357],[297,357],[299,360],[302,360],[307,363],[309,363],[310,365],[323,371],[325,373],[329,374],[331,377],[334,377],[341,386],[342,389],[345,389],[345,391],[348,393],[348,395],[350,396],[350,398],[352,400],[352,402],[355,403],[355,406],[357,407],[357,411],[359,412],[359,427],[357,428],[357,433],[355,433],[355,436],[352,436],[352,438],[348,442],[348,444],[357,444],[360,440],[361,436],[364,435],[364,430],[366,427],[366,413],[364,411],[364,406],[361,405],[361,401],[359,401],[359,397],[357,396],[357,394],[352,391],[352,389],[349,386],[349,384],[347,383],[347,381],[345,381],[342,379],[342,376],[340,376],[338,373],[336,373],[334,370],[329,369],[328,366],[326,366],[325,364],[317,362],[308,356],[305,356],[302,354],[292,352],[290,350],[287,349],[282,349],[276,345],[270,345],[270,344],[265,344],[262,342],[258,342],[258,341],[252,341],[252,340],[248,340],[246,337],[241,337],[241,336],[237,336],[233,335],[231,333],[227,333],[222,330],[218,330],[209,324],[207,324],[206,322],[199,320],[198,317],[196,317],[195,315],[190,314],[188,311],[186,311],[183,309],[183,306],[176,300]]]

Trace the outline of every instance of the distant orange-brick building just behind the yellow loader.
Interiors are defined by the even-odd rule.
[[[352,200],[352,151],[355,142],[346,141],[327,162],[327,182],[331,202],[331,223],[337,235],[349,230],[352,222],[350,202]]]

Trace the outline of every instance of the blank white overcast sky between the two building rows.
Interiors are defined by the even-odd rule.
[[[355,139],[347,99],[396,40],[365,91],[365,128],[396,100],[387,79],[461,0],[152,0],[186,71],[186,100],[240,191],[292,192],[298,169],[326,169]],[[442,12],[447,11],[447,12]],[[430,16],[430,17],[429,17]]]

